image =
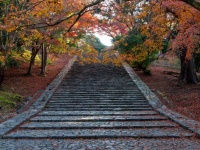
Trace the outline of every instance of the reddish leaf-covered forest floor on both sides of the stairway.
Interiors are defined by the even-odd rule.
[[[31,105],[68,60],[66,55],[59,56],[52,65],[47,66],[46,77],[38,76],[39,66],[34,67],[33,76],[25,76],[28,63],[22,63],[19,68],[6,70],[3,86],[24,99],[30,99]],[[168,108],[200,122],[200,84],[177,85],[178,70],[158,66],[151,66],[151,70],[152,76],[145,76],[141,71],[136,73]],[[0,109],[0,122],[16,114],[16,108],[6,111]]]

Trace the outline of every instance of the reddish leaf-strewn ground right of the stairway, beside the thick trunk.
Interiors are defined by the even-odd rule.
[[[152,76],[136,73],[168,108],[200,122],[200,84],[178,85],[178,70],[151,66],[151,71]]]

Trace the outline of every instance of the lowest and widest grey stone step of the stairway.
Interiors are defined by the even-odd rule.
[[[4,138],[14,139],[97,139],[97,138],[182,138],[193,134],[180,128],[153,129],[69,129],[69,130],[18,130]]]

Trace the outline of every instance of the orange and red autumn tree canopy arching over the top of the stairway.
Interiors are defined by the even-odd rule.
[[[198,82],[193,59],[200,45],[199,0],[0,0],[0,6],[2,70],[9,54],[23,49],[32,51],[28,73],[39,51],[44,55],[43,70],[48,51],[65,51],[97,62],[95,42],[83,38],[103,31],[113,39],[121,37],[115,48],[124,44],[127,52],[121,53],[120,59],[130,62],[144,61],[161,51],[167,41],[168,50],[180,56],[180,80]],[[141,43],[130,43],[130,38],[140,41],[141,35]],[[186,70],[192,74],[187,75]]]

